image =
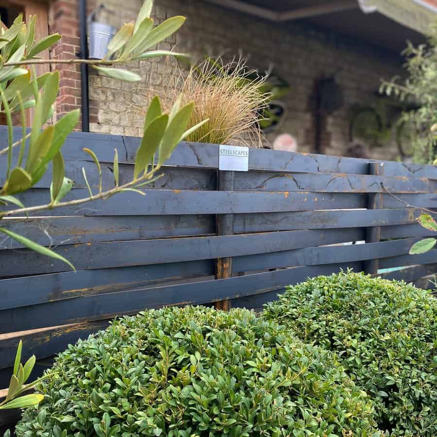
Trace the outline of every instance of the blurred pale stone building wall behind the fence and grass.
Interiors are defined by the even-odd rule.
[[[71,0],[74,1],[74,0]],[[135,18],[142,0],[107,0],[109,15],[119,27]],[[241,53],[250,67],[261,71],[273,66],[291,86],[283,99],[288,111],[279,129],[298,140],[298,151],[314,151],[314,89],[316,81],[334,75],[343,92],[342,108],[327,117],[321,135],[321,152],[342,155],[349,146],[351,108],[372,104],[381,78],[400,74],[402,59],[396,54],[361,41],[289,22],[275,24],[239,14],[201,0],[156,0],[154,18],[184,15],[186,23],[177,35],[160,45],[162,49],[186,51],[201,58],[205,54],[232,58]],[[141,84],[126,84],[97,75],[90,76],[91,119],[94,132],[140,135],[141,111],[147,106],[145,88],[165,92],[172,84],[175,66],[171,60],[155,58],[130,68],[143,77]],[[396,159],[395,144],[374,148],[373,158]]]

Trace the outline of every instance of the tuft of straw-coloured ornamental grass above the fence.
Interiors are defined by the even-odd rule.
[[[207,59],[188,70],[179,68],[170,81],[172,85],[163,90],[137,91],[146,101],[159,95],[165,112],[179,95],[183,105],[194,101],[189,126],[205,119],[209,121],[185,138],[186,141],[261,147],[259,114],[269,94],[263,91],[266,77],[257,76],[253,80],[253,73],[242,59],[229,63],[223,63],[221,58]],[[134,106],[131,110],[141,115],[141,105],[131,106]]]

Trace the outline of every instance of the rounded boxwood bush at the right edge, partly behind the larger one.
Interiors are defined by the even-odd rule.
[[[263,317],[335,351],[375,400],[381,430],[437,436],[437,300],[428,291],[341,272],[287,287]]]

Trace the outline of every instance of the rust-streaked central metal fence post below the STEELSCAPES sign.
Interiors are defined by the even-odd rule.
[[[234,190],[234,171],[218,170],[218,190]],[[217,215],[217,235],[234,234],[234,215],[218,214]],[[232,276],[232,257],[218,258],[216,261],[216,279],[226,279]],[[214,305],[216,309],[229,310],[231,301],[218,301]]]

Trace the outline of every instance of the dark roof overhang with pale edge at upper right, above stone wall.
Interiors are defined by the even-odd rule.
[[[437,22],[437,0],[208,0],[287,25],[299,20],[400,52],[424,41]]]

